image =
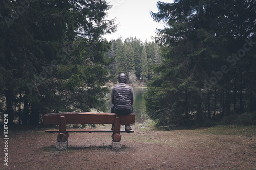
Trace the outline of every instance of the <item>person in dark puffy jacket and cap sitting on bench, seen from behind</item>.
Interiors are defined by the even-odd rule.
[[[127,76],[121,73],[118,76],[119,84],[115,85],[111,91],[111,113],[118,115],[127,115],[133,112],[133,88],[126,84]],[[112,124],[111,130],[114,130]],[[125,125],[125,130],[132,130],[129,124]]]

